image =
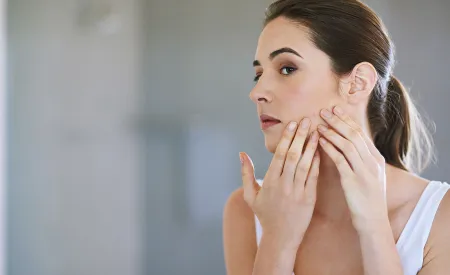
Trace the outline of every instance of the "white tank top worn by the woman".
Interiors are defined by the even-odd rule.
[[[258,180],[261,184],[262,181]],[[423,251],[430,235],[434,216],[450,185],[445,182],[431,181],[417,202],[405,228],[397,241],[397,251],[402,261],[405,275],[417,275],[423,265]],[[256,240],[259,245],[262,228],[255,216]]]

